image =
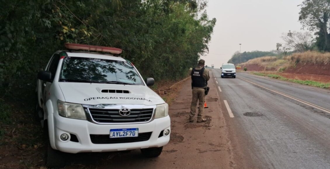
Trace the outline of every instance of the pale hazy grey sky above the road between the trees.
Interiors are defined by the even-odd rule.
[[[209,43],[201,58],[205,65],[220,68],[234,52],[270,51],[282,42],[283,32],[303,31],[298,21],[303,0],[209,0],[207,14],[216,18]]]

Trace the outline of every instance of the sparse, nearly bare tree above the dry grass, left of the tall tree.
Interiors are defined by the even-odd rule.
[[[309,32],[296,32],[289,31],[288,33],[282,33],[283,44],[277,44],[277,49],[282,47],[282,50],[293,50],[296,52],[304,52],[313,49],[314,39],[313,35]],[[282,46],[284,45],[284,46]]]

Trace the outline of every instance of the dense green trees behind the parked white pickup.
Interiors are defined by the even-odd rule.
[[[144,77],[181,78],[208,52],[216,20],[206,3],[1,0],[0,97],[33,92],[38,70],[65,42],[118,47]]]

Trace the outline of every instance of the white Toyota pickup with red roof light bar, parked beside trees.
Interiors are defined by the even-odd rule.
[[[168,104],[129,61],[87,49],[121,49],[66,43],[38,73],[37,112],[49,136],[46,164],[65,165],[63,154],[141,149],[159,156],[170,140]],[[72,50],[74,49],[74,50]],[[65,153],[63,153],[65,152]]]

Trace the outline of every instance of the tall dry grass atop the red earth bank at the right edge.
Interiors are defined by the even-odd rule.
[[[288,60],[293,64],[313,63],[313,64],[330,64],[330,53],[320,53],[315,51],[307,51],[303,53],[293,53],[291,56],[286,56],[284,60]]]

